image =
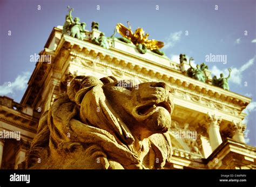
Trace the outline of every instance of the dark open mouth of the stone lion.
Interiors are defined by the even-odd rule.
[[[157,107],[163,107],[171,114],[171,105],[169,102],[166,102],[166,101],[159,102],[159,103],[150,103],[148,105],[141,106],[137,109],[137,114],[147,115]]]

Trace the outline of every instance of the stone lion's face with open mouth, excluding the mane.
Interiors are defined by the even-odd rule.
[[[171,88],[164,82],[133,85],[129,80],[114,81],[104,85],[103,90],[112,108],[139,140],[165,133],[173,110]]]

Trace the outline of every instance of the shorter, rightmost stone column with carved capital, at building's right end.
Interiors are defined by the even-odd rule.
[[[231,130],[233,131],[232,139],[241,143],[245,143],[245,138],[244,138],[245,128],[246,128],[246,125],[241,121],[239,122],[233,121],[231,124]]]

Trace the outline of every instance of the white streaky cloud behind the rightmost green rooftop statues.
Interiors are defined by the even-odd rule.
[[[247,63],[242,65],[240,68],[237,67],[231,67],[231,78],[229,79],[230,82],[233,82],[234,84],[240,85],[242,82],[242,73],[247,70],[249,67],[251,67],[256,59],[256,56],[252,59],[248,60]],[[228,70],[220,70],[217,66],[213,66],[211,70],[213,75],[216,75],[217,78],[219,77],[220,73],[223,73],[224,76],[228,76]]]

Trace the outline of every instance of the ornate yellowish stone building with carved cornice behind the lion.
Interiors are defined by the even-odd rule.
[[[169,135],[172,161],[166,169],[255,169],[256,148],[245,143],[242,112],[250,98],[212,85],[211,72],[206,82],[186,75],[186,61],[171,61],[117,38],[109,38],[110,48],[92,43],[100,31],[85,31],[81,40],[62,34],[54,27],[41,51],[21,103],[0,98],[0,131],[20,131],[20,138],[0,138],[0,167],[17,169],[25,159],[41,114],[48,110],[69,82],[77,75],[97,78],[114,76],[166,82],[173,88],[174,111]],[[42,57],[42,58],[41,58]],[[15,140],[16,139],[16,140]],[[19,139],[19,140],[18,140]]]

